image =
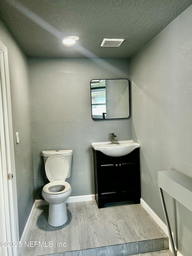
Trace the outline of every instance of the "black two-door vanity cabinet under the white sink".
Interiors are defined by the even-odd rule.
[[[95,200],[99,208],[106,203],[140,203],[139,148],[128,155],[111,157],[93,149]]]

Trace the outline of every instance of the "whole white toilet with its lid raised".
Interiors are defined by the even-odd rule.
[[[71,186],[65,181],[71,174],[73,150],[42,151],[46,178],[49,183],[43,187],[42,196],[49,203],[48,223],[58,227],[67,222],[66,200],[71,194]]]

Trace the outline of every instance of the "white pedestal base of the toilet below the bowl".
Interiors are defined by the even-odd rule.
[[[49,203],[48,224],[52,227],[62,226],[67,222],[67,206],[66,201],[61,204]]]

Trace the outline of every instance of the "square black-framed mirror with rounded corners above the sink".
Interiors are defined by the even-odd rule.
[[[128,118],[129,80],[91,80],[91,108],[93,120]]]

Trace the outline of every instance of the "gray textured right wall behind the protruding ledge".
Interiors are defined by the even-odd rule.
[[[158,171],[174,169],[192,178],[191,13],[192,6],[130,61],[132,138],[141,144],[141,194],[163,220]],[[168,195],[166,200],[177,247],[190,256],[192,212]]]

